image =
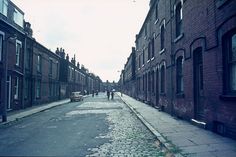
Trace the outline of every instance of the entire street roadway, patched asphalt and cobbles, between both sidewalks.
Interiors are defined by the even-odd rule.
[[[67,103],[0,127],[0,156],[164,156],[115,95]]]

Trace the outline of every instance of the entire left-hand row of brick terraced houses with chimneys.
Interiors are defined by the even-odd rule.
[[[68,98],[73,91],[100,90],[98,76],[33,38],[24,12],[10,0],[0,0],[0,115],[5,111]]]

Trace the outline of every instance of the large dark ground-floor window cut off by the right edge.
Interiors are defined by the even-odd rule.
[[[227,94],[236,94],[236,30],[223,39],[224,89]]]

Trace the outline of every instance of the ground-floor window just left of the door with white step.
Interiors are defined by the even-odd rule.
[[[176,61],[176,92],[182,93],[184,91],[183,87],[183,57],[180,56]]]

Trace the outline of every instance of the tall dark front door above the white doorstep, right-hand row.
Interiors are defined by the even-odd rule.
[[[204,119],[204,98],[203,98],[203,64],[202,48],[193,52],[194,68],[194,116],[197,120]]]

